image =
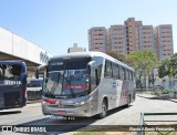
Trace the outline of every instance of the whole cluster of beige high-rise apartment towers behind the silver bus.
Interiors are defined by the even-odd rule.
[[[171,25],[143,25],[142,21],[128,18],[124,25],[91,28],[88,30],[90,51],[114,51],[128,54],[133,51],[155,50],[157,58],[164,60],[174,54]],[[162,49],[163,48],[163,49]]]

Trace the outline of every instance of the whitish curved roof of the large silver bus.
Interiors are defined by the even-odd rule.
[[[116,60],[116,59],[103,53],[103,52],[96,52],[96,51],[95,52],[94,51],[90,51],[90,52],[73,52],[73,53],[61,54],[61,55],[51,58],[50,61],[55,61],[55,60],[61,59],[61,58],[80,58],[80,56],[81,58],[82,56],[83,58],[84,56],[85,58],[88,58],[88,56],[91,56],[91,58],[93,58],[93,56],[102,56],[102,58],[105,58],[105,59],[107,59],[107,60],[110,60],[112,62],[117,63],[121,66],[124,66],[124,68],[126,68],[126,69],[128,69],[131,71],[134,71],[134,69],[128,66],[127,64],[125,64],[125,63],[123,63],[123,62],[121,62],[121,61],[118,61],[118,60]]]

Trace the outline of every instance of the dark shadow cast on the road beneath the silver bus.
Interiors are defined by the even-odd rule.
[[[131,107],[131,106],[129,106]],[[123,111],[126,106],[122,106],[118,108],[114,108],[108,112],[107,116],[115,114],[117,112]],[[17,125],[17,127],[29,127],[29,128],[41,128],[41,134],[62,134],[67,132],[80,131],[90,126],[91,124],[97,121],[97,116],[92,117],[58,117],[58,116],[49,116],[45,118],[32,121],[29,123],[22,123]],[[96,126],[96,125],[92,125]],[[86,129],[86,128],[85,128]],[[45,133],[46,131],[46,133]],[[35,132],[33,132],[37,134]],[[39,134],[39,133],[38,133]]]

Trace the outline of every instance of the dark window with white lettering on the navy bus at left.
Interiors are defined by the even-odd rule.
[[[22,65],[0,64],[0,85],[21,84]]]

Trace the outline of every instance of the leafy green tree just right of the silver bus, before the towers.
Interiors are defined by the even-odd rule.
[[[155,52],[153,50],[135,51],[126,55],[126,60],[135,69],[137,85],[143,90],[142,76],[144,76],[144,81],[146,82],[146,76],[149,75],[150,70],[157,64]]]

